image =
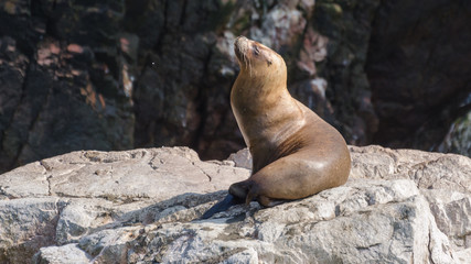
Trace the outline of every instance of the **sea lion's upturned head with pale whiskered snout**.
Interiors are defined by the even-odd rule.
[[[240,66],[240,72],[249,76],[286,77],[286,64],[280,55],[256,41],[238,36],[234,42],[234,52]]]

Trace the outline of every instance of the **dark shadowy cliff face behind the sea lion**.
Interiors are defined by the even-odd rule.
[[[2,1],[0,170],[89,148],[189,145],[226,157],[244,146],[228,100],[240,34],[285,57],[291,94],[349,143],[467,154],[470,9],[439,0]]]

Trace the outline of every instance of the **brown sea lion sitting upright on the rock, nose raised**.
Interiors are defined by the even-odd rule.
[[[235,40],[234,51],[240,72],[231,106],[253,156],[253,170],[202,218],[235,204],[257,200],[270,207],[343,185],[351,167],[345,140],[290,96],[282,57],[244,36]]]

